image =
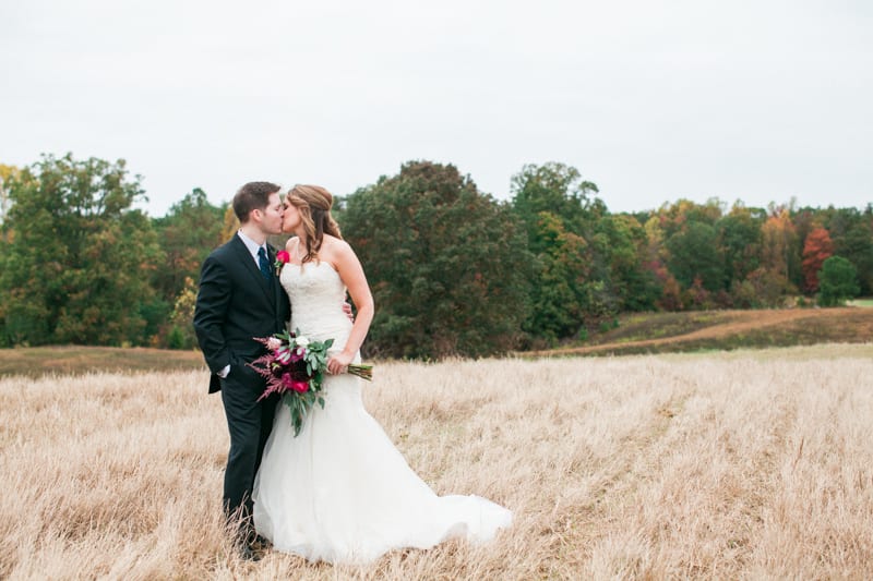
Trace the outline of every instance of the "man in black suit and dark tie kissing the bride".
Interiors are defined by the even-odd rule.
[[[264,378],[246,364],[265,353],[254,337],[282,331],[290,318],[288,296],[279,286],[270,234],[282,232],[279,186],[250,182],[234,196],[240,229],[206,257],[200,275],[194,330],[212,372],[210,394],[222,392],[230,432],[225,470],[224,509],[239,524],[242,557],[256,560],[252,486],[261,453],[273,427],[276,398],[258,401]]]

